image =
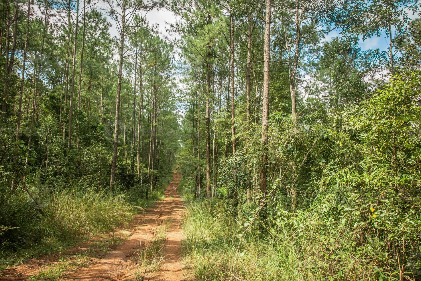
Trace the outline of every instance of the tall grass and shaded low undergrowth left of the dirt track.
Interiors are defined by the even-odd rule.
[[[81,180],[54,188],[32,187],[41,209],[23,190],[2,198],[0,268],[48,254],[100,233],[127,226],[151,201],[135,189],[99,189]],[[155,197],[159,197],[158,193]],[[4,217],[3,217],[4,215]],[[3,226],[3,227],[1,227]],[[3,229],[2,229],[3,228]]]

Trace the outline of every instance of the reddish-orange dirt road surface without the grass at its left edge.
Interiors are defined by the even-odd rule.
[[[176,189],[180,175],[174,173],[173,181],[165,190],[165,200],[139,214],[134,227],[127,231],[126,239],[101,257],[90,258],[86,264],[72,270],[64,268],[58,280],[184,280],[184,265],[181,260],[181,217],[184,207]],[[165,234],[166,233],[166,234]],[[157,240],[157,235],[162,237]],[[144,257],[143,259],[141,257]],[[53,258],[27,263],[3,272],[2,280],[25,280],[40,273]],[[152,261],[151,261],[152,260]],[[40,264],[40,266],[37,266]],[[150,264],[150,265],[149,265]],[[56,266],[57,267],[57,266]],[[44,268],[44,269],[43,269]],[[3,279],[8,278],[8,279]],[[32,277],[33,278],[33,277]]]

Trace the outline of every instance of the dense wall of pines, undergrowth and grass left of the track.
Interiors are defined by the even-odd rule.
[[[109,2],[101,11],[94,4],[0,4],[5,259],[128,222],[139,210],[133,206],[156,199],[173,170],[173,46],[145,21],[154,5]]]

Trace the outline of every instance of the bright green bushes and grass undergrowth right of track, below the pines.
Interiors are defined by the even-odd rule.
[[[260,135],[250,130],[248,147],[220,160],[223,200],[188,208],[186,253],[195,276],[420,279],[420,74],[395,76],[369,99],[325,115],[325,123],[306,116],[295,128],[272,112],[264,216],[256,205]]]

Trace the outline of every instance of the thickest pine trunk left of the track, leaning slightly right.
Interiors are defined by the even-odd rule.
[[[117,166],[117,149],[118,149],[118,125],[120,118],[120,93],[121,83],[123,78],[123,54],[124,54],[124,35],[125,35],[125,13],[126,13],[126,1],[122,4],[122,15],[121,15],[121,30],[120,30],[120,54],[118,64],[118,81],[117,81],[117,96],[115,99],[115,123],[114,123],[114,142],[112,151],[112,165],[111,165],[111,176],[109,185],[114,184],[115,179],[115,168]]]

